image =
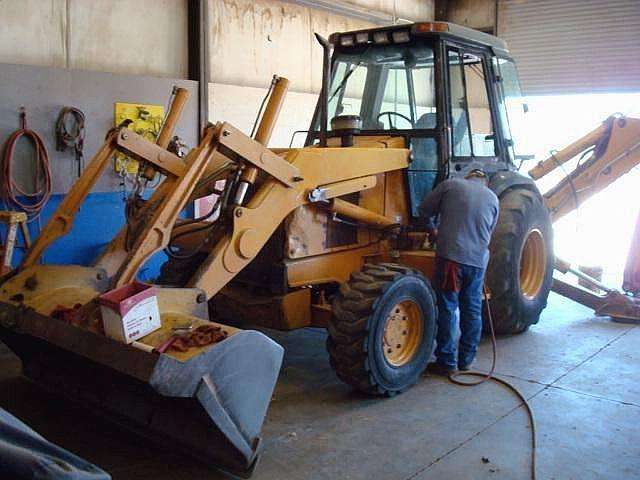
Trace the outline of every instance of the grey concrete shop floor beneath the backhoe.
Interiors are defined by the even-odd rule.
[[[322,330],[273,337],[285,365],[254,479],[529,478],[528,419],[503,387],[426,377],[395,398],[369,399],[335,377]],[[536,415],[538,478],[640,478],[638,345],[640,328],[555,295],[538,326],[499,339],[497,371]],[[484,339],[476,367],[490,359]],[[15,358],[0,353],[0,365],[0,406],[115,480],[226,478],[17,378]]]

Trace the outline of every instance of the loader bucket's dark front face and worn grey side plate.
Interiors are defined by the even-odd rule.
[[[283,348],[238,330],[181,361],[0,301],[0,340],[45,388],[200,463],[251,475]]]

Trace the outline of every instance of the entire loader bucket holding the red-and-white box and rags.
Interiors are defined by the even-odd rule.
[[[104,272],[35,266],[0,287],[0,339],[24,374],[96,413],[199,461],[248,476],[283,349],[260,332],[220,325],[228,337],[195,351],[145,351],[49,316],[107,289]],[[159,288],[162,330],[155,347],[189,322],[210,324],[197,289]],[[149,348],[150,350],[150,348]]]

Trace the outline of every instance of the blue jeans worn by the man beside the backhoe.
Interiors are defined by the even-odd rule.
[[[458,264],[459,292],[443,291],[444,264],[436,258],[438,294],[437,362],[449,367],[473,362],[482,336],[482,284],[484,268]],[[456,341],[456,311],[460,309],[460,342]]]

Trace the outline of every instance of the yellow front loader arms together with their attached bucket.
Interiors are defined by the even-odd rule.
[[[356,147],[280,154],[268,149],[286,86],[286,79],[276,80],[255,139],[228,123],[209,125],[184,159],[164,145],[186,101],[184,91],[177,92],[157,144],[125,126],[110,131],[0,292],[0,338],[22,358],[28,376],[76,392],[141,433],[167,439],[170,447],[240,473],[255,465],[283,350],[260,332],[210,322],[207,300],[251,263],[297,207],[314,205],[374,229],[393,225],[336,197],[373,188],[376,175],[406,168],[409,159],[405,148],[380,148],[375,155]],[[147,200],[135,192],[136,208],[93,267],[39,265],[47,247],[69,233],[116,151],[136,158],[142,177],[162,174],[164,180]],[[188,230],[180,212],[194,197],[216,191],[221,179],[219,218],[207,230],[206,258],[184,288],[158,290],[161,330],[131,345],[104,336],[96,298],[130,283],[153,254],[170,245],[176,230]],[[51,317],[56,308],[76,306],[77,324]],[[224,328],[225,339],[186,353],[162,350],[175,328],[212,323]]]

